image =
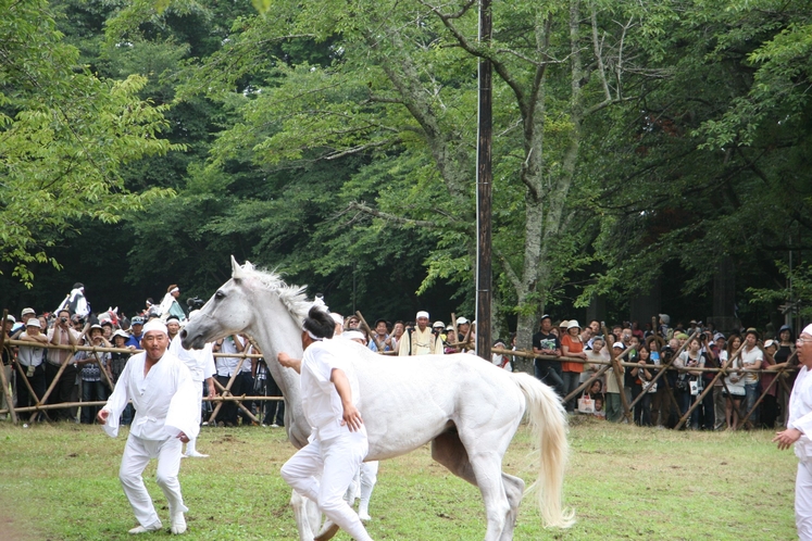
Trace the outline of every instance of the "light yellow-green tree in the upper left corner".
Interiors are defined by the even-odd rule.
[[[116,222],[171,192],[125,189],[122,167],[173,147],[146,80],[96,77],[78,64],[43,0],[0,2],[0,261],[30,286],[33,262],[85,217]]]

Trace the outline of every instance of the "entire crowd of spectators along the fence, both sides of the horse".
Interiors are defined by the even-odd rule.
[[[67,405],[49,410],[46,416],[53,420],[93,423],[97,406],[82,406],[80,414],[77,414],[78,404],[107,400],[127,358],[140,348],[146,320],[163,318],[174,339],[187,315],[177,301],[178,297],[179,288],[171,285],[160,304],[150,299],[140,313],[127,318],[115,310],[92,313],[84,297],[84,287],[77,284],[53,313],[38,315],[34,309],[26,307],[21,312],[20,320],[9,315],[4,323],[7,338],[26,344],[3,348],[3,369],[7,380],[12,382],[12,394],[0,391],[2,408],[8,408],[9,398],[14,400],[16,407],[35,405],[57,380],[47,403]],[[201,304],[199,299],[190,299],[188,303],[189,309]],[[419,312],[415,322],[392,323],[379,318],[367,325],[358,315],[347,318],[333,315],[338,334],[385,355],[473,351],[476,341],[476,322],[465,317],[458,317],[447,325],[441,320],[430,323],[428,313]],[[562,399],[570,397],[564,404],[567,412],[575,414],[579,399],[588,397],[591,399],[588,413],[613,423],[633,422],[639,426],[673,428],[697,401],[701,403],[696,405],[686,424],[690,429],[773,429],[786,423],[795,373],[785,373],[782,368],[789,366],[795,352],[791,328],[784,326],[777,336],[762,337],[752,328],[724,335],[701,322],[691,320],[688,326],[678,324],[674,328],[670,323],[669,316],[661,314],[660,324],[653,330],[651,326],[644,330],[636,323],[608,327],[597,320],[582,327],[575,319],[553,322],[545,315],[533,336],[533,352],[537,355],[535,375]],[[116,351],[49,349],[46,348],[48,344],[85,344],[115,348]],[[494,345],[515,350],[515,337],[507,343],[496,340]],[[214,353],[223,354],[215,355],[216,373],[212,375],[222,389],[227,388],[236,397],[282,395],[264,358],[242,355],[261,355],[248,337],[229,336],[215,342],[212,349]],[[741,351],[736,355],[739,349]],[[615,357],[630,365],[611,363]],[[510,370],[516,358],[495,353],[492,362]],[[658,376],[665,364],[671,364],[674,369]],[[724,377],[716,377],[717,370],[708,370],[724,366],[727,368]],[[588,380],[591,382],[585,385]],[[713,389],[703,393],[709,386]],[[578,389],[580,392],[574,392]],[[757,404],[763,391],[766,393]],[[201,392],[208,393],[205,385]],[[626,419],[625,407],[633,403],[630,418]],[[203,419],[208,422],[212,405],[209,402],[203,404]],[[284,426],[283,401],[243,401],[242,405],[245,410],[236,402],[223,402],[215,422],[235,426],[239,423],[257,424],[254,419],[259,419],[263,426]],[[34,416],[26,413],[22,417],[29,419]],[[126,425],[132,418],[129,407],[124,412],[122,423]]]

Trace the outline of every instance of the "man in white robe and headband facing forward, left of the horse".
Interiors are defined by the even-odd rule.
[[[157,482],[168,501],[172,533],[186,531],[180,483],[180,449],[199,431],[195,413],[197,391],[189,369],[168,353],[166,326],[152,319],[143,326],[143,352],[127,361],[108,403],[98,414],[104,430],[118,435],[118,417],[132,400],[136,410],[118,470],[124,493],[139,526],[129,533],[160,530],[163,525],[143,486],[141,474],[151,458],[158,458]],[[199,392],[199,391],[197,391]]]

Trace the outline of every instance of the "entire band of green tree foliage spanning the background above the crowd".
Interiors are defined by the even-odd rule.
[[[489,46],[467,0],[2,5],[0,252],[38,273],[124,216],[126,294],[208,294],[235,254],[345,312],[471,315],[480,58],[502,327],[707,297],[723,261],[777,302],[809,248],[809,2],[509,0]]]

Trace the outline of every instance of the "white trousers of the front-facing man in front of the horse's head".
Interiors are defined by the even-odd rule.
[[[143,440],[132,433],[127,438],[124,456],[122,456],[122,467],[118,470],[118,480],[122,482],[122,488],[127,495],[127,500],[129,500],[129,505],[133,507],[138,524],[143,527],[158,520],[152,498],[147,492],[141,477],[143,469],[152,458],[158,458],[155,481],[170,503],[170,517],[173,517],[176,513],[189,511],[184,505],[184,498],[180,495],[180,482],[177,480],[177,473],[180,469],[182,448],[183,443],[177,438],[154,441]]]

